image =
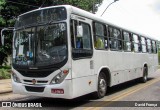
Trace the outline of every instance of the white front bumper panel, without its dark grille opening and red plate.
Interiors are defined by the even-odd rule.
[[[26,90],[25,86],[28,87],[44,87],[43,92],[29,92]],[[12,79],[12,88],[13,93],[16,94],[23,94],[23,95],[31,95],[31,96],[41,96],[41,97],[52,97],[52,98],[65,98],[65,99],[72,99],[74,98],[72,95],[72,81],[71,80],[64,80],[63,83],[58,85],[26,85],[22,83],[16,83]],[[52,93],[52,89],[63,89],[63,94],[55,94]]]

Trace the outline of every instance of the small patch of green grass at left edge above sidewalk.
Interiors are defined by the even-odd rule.
[[[1,66],[0,67],[0,79],[10,79],[11,78],[11,67]]]

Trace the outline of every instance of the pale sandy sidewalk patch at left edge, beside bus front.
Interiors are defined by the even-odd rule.
[[[0,94],[12,92],[11,79],[0,80]]]

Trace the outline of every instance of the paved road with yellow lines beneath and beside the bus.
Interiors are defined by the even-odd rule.
[[[141,106],[138,109],[142,110],[158,110],[158,107],[143,107],[144,103],[151,103],[152,105],[160,104],[160,70],[149,76],[147,83],[139,83],[138,80],[133,80],[124,84],[120,84],[109,88],[109,92],[102,99],[93,99],[91,95],[86,95],[74,100],[64,100],[64,99],[52,99],[52,98],[41,98],[17,94],[1,94],[1,101],[18,101],[20,103],[25,102],[37,102],[42,103],[42,106],[49,106],[52,108],[45,109],[137,109],[133,106]],[[116,101],[116,102],[114,102]],[[129,101],[129,102],[128,102]],[[135,101],[135,102],[133,102]],[[142,102],[139,102],[142,101]],[[158,102],[148,102],[148,101],[158,101]],[[116,106],[122,106],[121,108]],[[124,107],[132,106],[132,107]],[[61,107],[61,108],[59,108]],[[44,109],[44,108],[43,108]]]

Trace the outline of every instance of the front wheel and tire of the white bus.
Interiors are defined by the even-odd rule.
[[[107,80],[103,72],[100,72],[98,76],[97,91],[93,94],[96,99],[100,99],[106,95],[107,92]]]

